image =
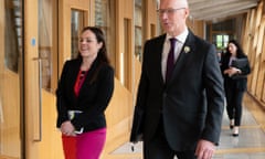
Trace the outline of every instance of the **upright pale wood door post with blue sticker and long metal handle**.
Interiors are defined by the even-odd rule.
[[[24,0],[24,105],[25,105],[25,158],[39,158],[40,95],[38,57],[38,1]]]

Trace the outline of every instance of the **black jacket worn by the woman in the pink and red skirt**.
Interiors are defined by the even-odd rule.
[[[82,110],[83,113],[75,116],[71,123],[76,130],[83,127],[84,131],[89,131],[106,127],[104,112],[114,91],[114,70],[107,64],[99,66],[98,61],[95,61],[80,89],[78,97],[76,97],[74,85],[81,63],[82,61],[77,59],[64,64],[56,91],[59,114],[56,126],[60,128],[63,121],[68,120],[67,110]],[[93,80],[96,72],[96,78]]]

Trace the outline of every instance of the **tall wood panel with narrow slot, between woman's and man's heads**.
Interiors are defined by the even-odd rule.
[[[132,87],[132,53],[134,53],[134,6],[132,0],[116,0],[116,76],[119,81],[124,78],[126,87]],[[126,60],[124,59],[126,57]],[[124,63],[121,61],[124,60]],[[123,65],[124,64],[124,65]],[[124,70],[123,70],[124,68]],[[123,72],[123,73],[121,73]],[[124,76],[123,76],[124,74]]]

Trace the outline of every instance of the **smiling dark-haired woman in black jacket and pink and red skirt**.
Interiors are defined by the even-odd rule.
[[[105,109],[114,92],[114,70],[100,29],[86,26],[77,59],[66,61],[56,89],[57,128],[65,159],[99,159],[106,140]]]

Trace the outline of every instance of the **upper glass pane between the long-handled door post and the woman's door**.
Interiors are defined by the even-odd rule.
[[[55,89],[56,76],[53,71],[56,68],[56,2],[53,0],[39,0],[39,57],[42,60],[42,88]]]

